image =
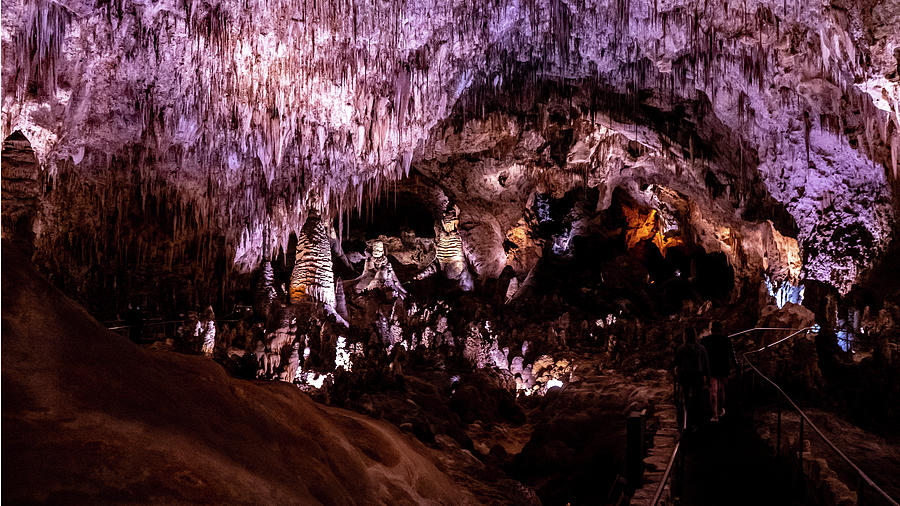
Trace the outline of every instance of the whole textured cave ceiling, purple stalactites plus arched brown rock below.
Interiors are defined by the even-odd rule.
[[[412,167],[470,197],[463,229],[492,239],[466,241],[479,274],[502,270],[529,190],[573,180],[601,208],[644,180],[709,228],[791,223],[803,276],[841,293],[891,235],[889,1],[41,0],[2,16],[3,134],[23,132],[53,183],[38,249],[67,265],[130,250],[248,272],[308,209],[371,207]],[[163,201],[162,230],[113,232]]]

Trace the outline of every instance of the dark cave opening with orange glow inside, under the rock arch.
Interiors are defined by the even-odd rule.
[[[540,204],[547,219],[538,230],[550,239],[571,228],[564,216],[597,197],[595,193],[583,196],[584,200],[568,195],[554,201],[555,219],[551,218],[553,207]],[[666,237],[664,224],[653,213],[616,190],[596,223],[572,238],[571,256],[554,255],[554,248],[548,248],[546,289],[553,287],[564,293],[565,300],[579,301],[592,311],[618,313],[627,307],[635,317],[648,318],[678,314],[685,304],[729,303],[735,273],[727,256],[692,244],[684,230]],[[653,219],[647,221],[647,217]]]

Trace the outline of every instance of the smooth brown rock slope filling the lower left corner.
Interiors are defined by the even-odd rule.
[[[428,450],[104,329],[3,245],[3,502],[468,502]]]

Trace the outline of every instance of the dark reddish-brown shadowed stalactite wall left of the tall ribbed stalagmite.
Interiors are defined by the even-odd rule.
[[[210,304],[230,312],[248,276],[232,268],[210,210],[165,181],[117,164],[110,171],[43,175],[35,265],[104,319],[129,304],[153,315]]]

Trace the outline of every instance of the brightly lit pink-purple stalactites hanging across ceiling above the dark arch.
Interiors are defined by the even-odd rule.
[[[879,146],[889,144],[887,158],[897,173],[900,116],[891,130],[890,116],[852,91],[864,55],[820,12],[827,9],[814,4],[709,2],[684,8],[681,2],[618,0],[425,0],[386,7],[379,1],[274,0],[251,10],[238,1],[108,2],[73,17],[61,5],[66,3],[22,0],[24,7],[12,7],[18,12],[10,18],[17,23],[11,30],[18,100],[28,100],[23,91],[34,83],[53,94],[67,44],[73,45],[68,53],[87,59],[121,54],[116,66],[87,61],[79,67],[85,78],[73,80],[77,86],[125,81],[110,89],[127,98],[119,103],[123,114],[134,113],[144,124],[130,139],[105,139],[105,146],[127,151],[142,144],[147,154],[136,166],[166,160],[171,163],[160,164],[165,166],[159,171],[167,174],[175,172],[171,165],[179,174],[208,168],[208,191],[198,197],[206,202],[194,207],[211,210],[222,230],[237,230],[234,257],[248,269],[286,247],[296,218],[284,217],[296,217],[298,208],[315,201],[330,217],[370,207],[384,186],[408,172],[421,141],[464,91],[485,83],[496,87],[517,61],[541,62],[535,80],[596,78],[620,90],[654,88],[660,97],[689,99],[700,90],[713,104],[717,90],[741,88],[741,124],[729,126],[750,132],[762,123],[753,121],[753,90],[762,90],[778,67],[780,41],[793,46],[796,38],[799,46],[792,49],[813,49],[804,51],[806,65],[849,97],[828,114],[815,114],[798,94],[782,94],[783,109],[812,112],[802,125],[807,144],[809,129],[842,132],[842,118],[862,109],[867,118],[858,134],[860,151],[881,158]],[[70,29],[73,23],[77,30]],[[802,37],[789,36],[794,28]],[[742,33],[758,38],[749,43],[737,35]],[[95,74],[104,71],[116,72],[115,78]],[[72,96],[82,105],[115,100],[84,89],[72,90]],[[479,97],[467,100],[477,113]],[[60,122],[65,128],[77,130],[79,122],[96,119],[78,116],[91,107],[63,105],[55,109],[70,116]],[[15,123],[4,119],[4,129]],[[87,142],[72,134],[59,138]],[[55,149],[71,149],[66,142]],[[81,161],[81,153],[73,160]],[[807,147],[807,158],[808,153]],[[310,197],[313,188],[316,196]],[[283,202],[266,195],[281,195]]]

